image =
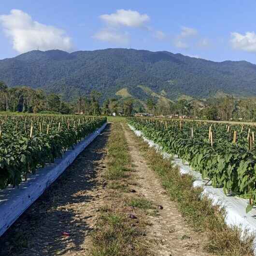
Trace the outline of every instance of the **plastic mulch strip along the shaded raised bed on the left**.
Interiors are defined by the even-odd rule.
[[[22,182],[19,187],[8,186],[0,190],[0,236],[71,165],[75,158],[100,134],[106,125],[107,123],[77,143],[74,149],[67,150],[62,158],[57,158],[54,163],[38,169],[35,174],[30,175],[28,180]]]

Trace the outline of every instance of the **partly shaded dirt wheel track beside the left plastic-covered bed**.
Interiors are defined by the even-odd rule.
[[[88,255],[105,186],[100,173],[109,132],[110,126],[0,238],[0,255]]]

